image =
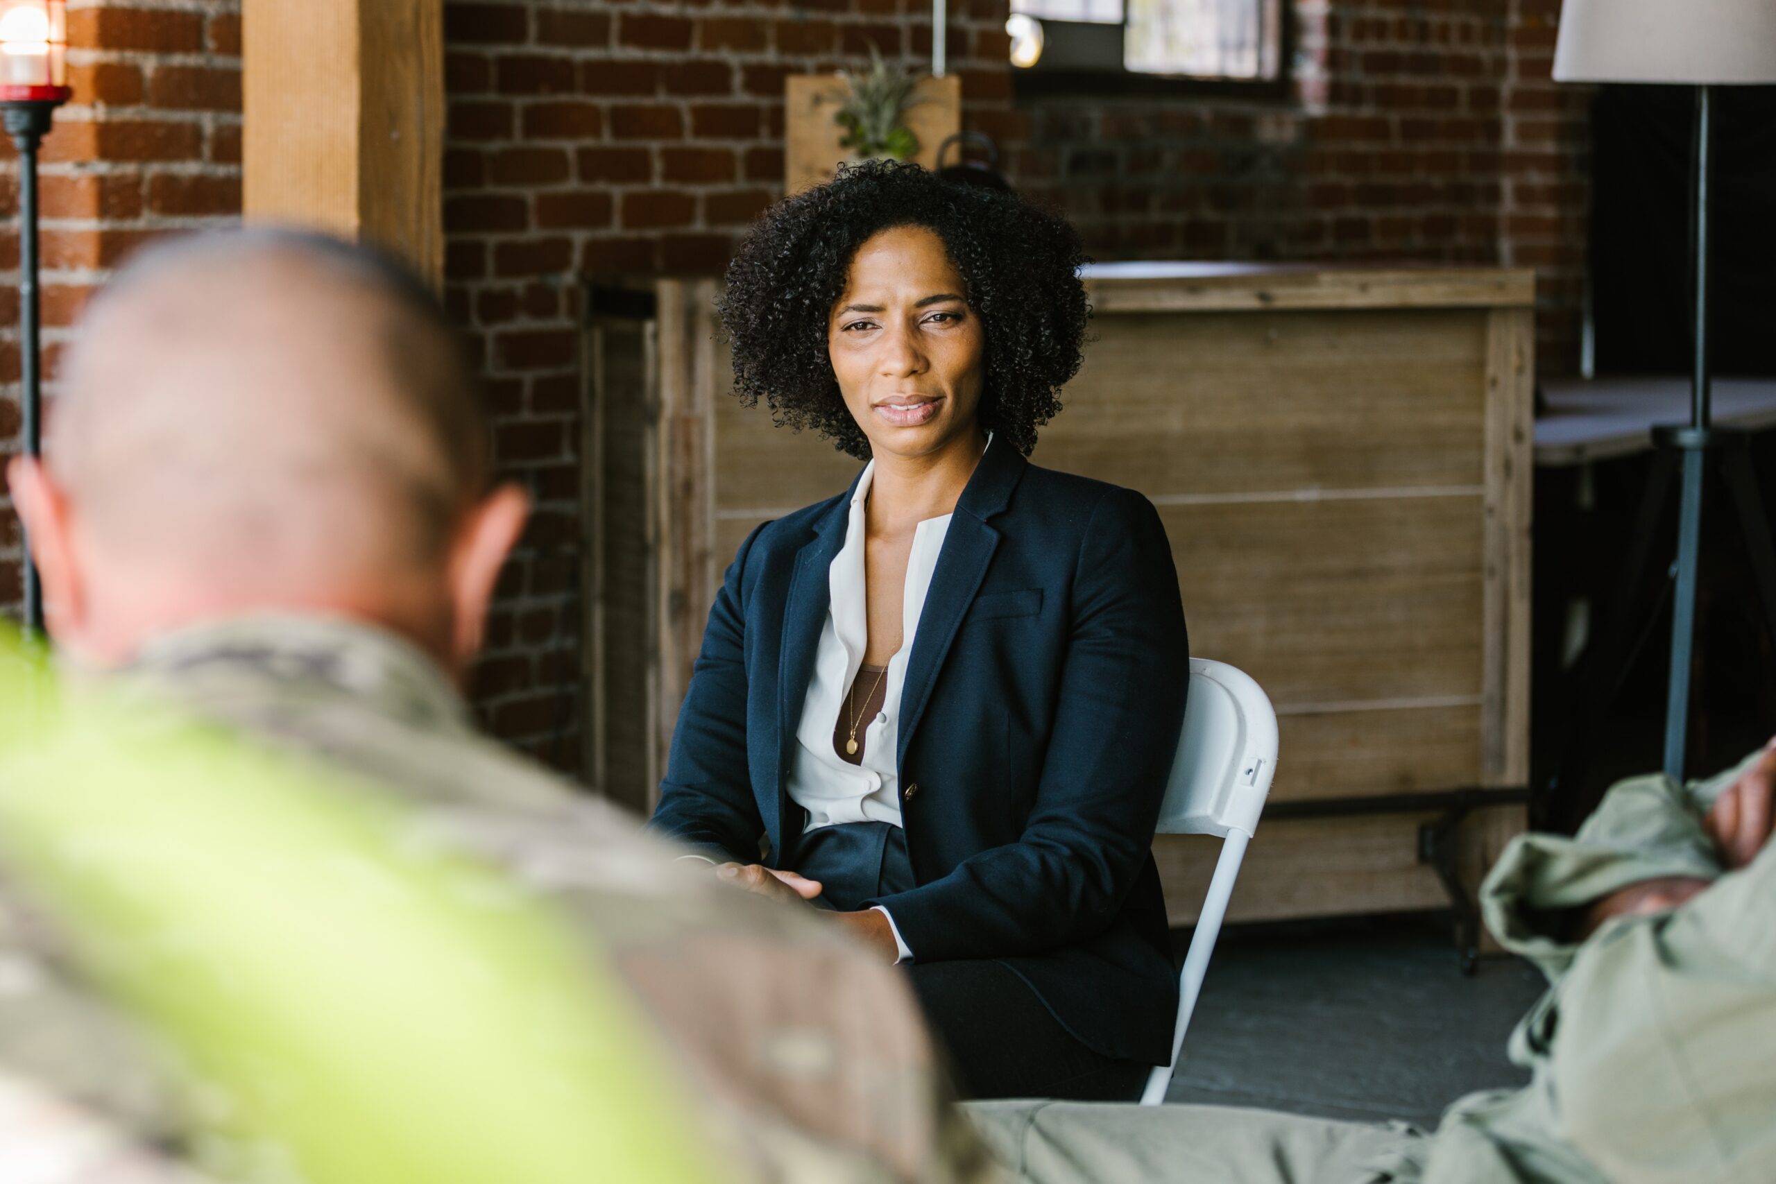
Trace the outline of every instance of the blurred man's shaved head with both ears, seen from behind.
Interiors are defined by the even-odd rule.
[[[50,632],[101,664],[252,612],[389,627],[460,669],[526,499],[424,286],[293,233],[137,256],[87,311],[12,495]]]

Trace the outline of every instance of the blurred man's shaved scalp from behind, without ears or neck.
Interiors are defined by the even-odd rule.
[[[417,280],[233,233],[149,249],[98,296],[48,454],[107,547],[309,579],[435,557],[487,481],[485,431]]]

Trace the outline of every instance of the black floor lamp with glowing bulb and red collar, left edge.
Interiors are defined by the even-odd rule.
[[[18,307],[20,419],[25,454],[36,456],[43,410],[37,293],[37,146],[67,87],[67,12],[64,0],[0,0],[0,121],[18,146]],[[43,593],[25,538],[25,632],[43,635]]]

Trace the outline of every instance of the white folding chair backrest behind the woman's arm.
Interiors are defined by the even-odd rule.
[[[1257,831],[1277,772],[1277,712],[1250,675],[1190,659],[1185,728],[1160,804],[1160,834]]]

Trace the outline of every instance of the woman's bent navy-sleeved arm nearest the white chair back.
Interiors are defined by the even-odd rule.
[[[1051,950],[1103,932],[1153,847],[1188,680],[1165,527],[1128,490],[1092,509],[1035,802],[1016,843],[870,900],[920,960]]]

